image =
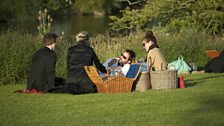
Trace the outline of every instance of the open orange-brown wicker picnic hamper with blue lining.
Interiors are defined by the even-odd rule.
[[[140,73],[141,64],[131,64],[126,76],[121,76],[119,72],[116,76],[110,76],[108,73],[105,80],[99,76],[94,66],[84,66],[84,69],[96,85],[98,93],[126,93],[131,92],[132,85]]]

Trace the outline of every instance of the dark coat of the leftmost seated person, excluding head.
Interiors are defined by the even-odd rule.
[[[39,49],[32,58],[27,90],[47,92],[55,86],[56,54],[48,47]]]

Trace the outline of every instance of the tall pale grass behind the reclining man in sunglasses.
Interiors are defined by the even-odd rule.
[[[141,44],[141,34],[135,33],[129,36],[110,37],[108,34],[98,34],[91,39],[91,45],[96,51],[98,57],[105,61],[109,57],[118,57],[125,49],[131,49],[136,53],[136,59],[145,58]]]

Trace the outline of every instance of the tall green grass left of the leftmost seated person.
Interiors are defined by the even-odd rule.
[[[38,38],[19,31],[0,36],[0,85],[26,80],[32,54],[40,47]]]

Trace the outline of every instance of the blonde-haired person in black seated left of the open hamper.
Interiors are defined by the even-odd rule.
[[[106,73],[105,67],[100,63],[93,48],[89,45],[88,32],[79,32],[76,35],[76,42],[76,45],[68,49],[66,84],[63,87],[52,90],[53,93],[95,93],[96,87],[88,77],[84,66],[92,66],[94,63],[98,70]]]

